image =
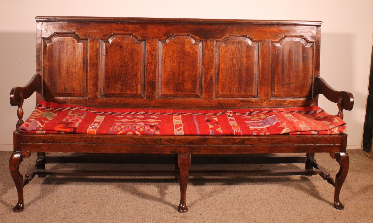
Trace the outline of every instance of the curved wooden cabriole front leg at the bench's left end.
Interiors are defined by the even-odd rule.
[[[15,151],[10,156],[9,160],[9,170],[12,175],[14,184],[16,185],[18,192],[18,203],[13,208],[14,212],[23,211],[23,176],[19,172],[19,164],[22,162],[22,154],[19,151]]]

